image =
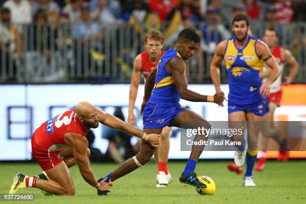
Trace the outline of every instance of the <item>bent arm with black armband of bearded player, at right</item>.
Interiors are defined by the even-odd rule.
[[[276,80],[276,78],[280,74],[280,68],[278,63],[276,62],[275,58],[272,56],[268,46],[261,40],[257,40],[256,42],[256,50],[260,58],[263,60],[263,62],[272,69],[270,75],[267,77],[267,79],[262,83],[259,93],[265,97],[270,92],[270,85],[272,82]]]

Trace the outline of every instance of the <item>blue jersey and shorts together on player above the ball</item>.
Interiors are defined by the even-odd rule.
[[[143,109],[143,128],[170,126],[171,120],[185,109],[179,104],[180,95],[172,74],[165,69],[166,63],[174,57],[181,58],[175,49],[170,48],[158,62],[154,89]]]

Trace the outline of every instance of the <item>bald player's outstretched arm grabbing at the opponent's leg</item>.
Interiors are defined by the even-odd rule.
[[[141,139],[144,139],[145,141],[149,142],[151,146],[157,147],[159,145],[160,142],[159,134],[146,134],[145,132],[141,131],[134,125],[124,122],[107,112],[99,110],[98,108],[96,109],[98,111],[98,117],[100,123],[109,126],[111,128],[119,129],[128,134],[135,135]]]

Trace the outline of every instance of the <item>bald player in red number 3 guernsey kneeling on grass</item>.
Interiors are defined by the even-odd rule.
[[[88,141],[86,134],[96,128],[99,122],[128,134],[135,135],[156,147],[158,134],[146,134],[132,124],[108,114],[83,101],[72,110],[56,115],[38,127],[32,135],[32,154],[43,172],[29,177],[15,172],[9,193],[16,193],[25,187],[37,187],[56,195],[74,195],[75,188],[68,167],[77,164],[83,179],[99,191],[110,191],[111,183],[98,182],[89,166]]]

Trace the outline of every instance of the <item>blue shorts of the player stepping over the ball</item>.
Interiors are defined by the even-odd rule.
[[[158,103],[146,103],[142,117],[143,128],[159,129],[165,126],[170,126],[171,120],[184,109],[186,108],[179,103],[173,106],[163,106]]]

